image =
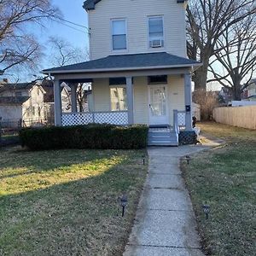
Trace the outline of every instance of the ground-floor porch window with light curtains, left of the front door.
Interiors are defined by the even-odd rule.
[[[110,87],[111,111],[127,110],[126,88],[121,86]]]

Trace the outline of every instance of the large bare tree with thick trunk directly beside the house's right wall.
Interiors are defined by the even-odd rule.
[[[187,9],[188,55],[203,63],[195,71],[195,90],[206,89],[212,55],[222,50],[218,38],[247,18],[256,14],[255,0],[191,0]],[[224,47],[224,46],[223,46]]]

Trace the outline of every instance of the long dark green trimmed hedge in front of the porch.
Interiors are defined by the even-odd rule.
[[[66,127],[24,128],[21,146],[32,150],[55,148],[146,148],[147,125],[76,125]]]

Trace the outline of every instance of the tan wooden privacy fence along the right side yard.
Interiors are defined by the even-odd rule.
[[[214,108],[213,119],[221,124],[256,130],[256,106]]]

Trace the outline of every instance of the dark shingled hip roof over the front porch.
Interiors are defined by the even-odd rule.
[[[166,52],[109,55],[94,61],[86,61],[64,67],[44,69],[58,79],[94,79],[106,77],[142,76],[168,73],[184,73],[201,63]]]

